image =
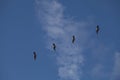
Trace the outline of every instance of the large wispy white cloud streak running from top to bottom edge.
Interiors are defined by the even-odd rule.
[[[36,10],[42,28],[47,33],[47,42],[52,44],[54,40],[57,45],[60,80],[80,80],[84,61],[81,43],[85,43],[90,36],[87,30],[91,22],[76,22],[65,18],[64,7],[57,0],[36,0]],[[77,37],[75,44],[71,42],[72,35]],[[82,40],[79,41],[81,37]]]

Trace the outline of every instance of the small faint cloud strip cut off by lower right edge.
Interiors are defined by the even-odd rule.
[[[111,80],[120,80],[120,53],[115,54],[115,63]]]

